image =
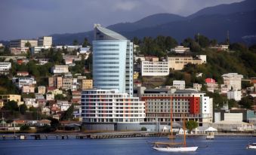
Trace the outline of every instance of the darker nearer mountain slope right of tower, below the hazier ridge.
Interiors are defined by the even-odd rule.
[[[138,29],[134,32],[122,32],[122,35],[128,38],[133,38],[133,36],[170,35],[177,41],[183,41],[184,38],[193,38],[195,34],[199,33],[208,38],[216,38],[217,41],[224,41],[227,38],[227,31],[229,31],[230,41],[242,41],[243,36],[256,34],[255,14],[256,11],[227,15],[205,15],[192,20],[176,21],[147,29]]]

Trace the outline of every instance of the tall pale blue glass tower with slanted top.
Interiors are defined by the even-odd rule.
[[[124,36],[94,25],[94,87],[133,95],[133,43]]]

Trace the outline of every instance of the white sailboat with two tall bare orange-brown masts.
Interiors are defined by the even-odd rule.
[[[153,142],[154,146],[152,147],[153,150],[165,151],[165,152],[193,152],[196,151],[198,147],[188,147],[186,143],[186,121],[184,118],[183,121],[183,129],[184,129],[184,142],[183,143],[175,143],[173,142],[173,132],[172,132],[172,105],[171,105],[171,142]]]

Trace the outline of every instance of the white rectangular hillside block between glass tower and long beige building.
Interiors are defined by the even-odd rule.
[[[142,76],[166,76],[169,74],[168,62],[149,62],[140,63]]]

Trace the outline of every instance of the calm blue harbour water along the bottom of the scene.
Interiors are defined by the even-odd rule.
[[[0,154],[256,154],[256,150],[245,149],[248,142],[256,142],[255,137],[205,137],[187,138],[188,144],[199,147],[193,153],[165,153],[152,150],[148,141],[165,141],[166,138],[116,138],[116,139],[67,139],[67,140],[0,140]],[[180,139],[178,138],[177,141]]]

